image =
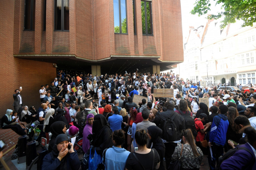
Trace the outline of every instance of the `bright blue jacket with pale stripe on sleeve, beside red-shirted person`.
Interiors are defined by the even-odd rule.
[[[226,142],[227,128],[229,127],[229,121],[224,114],[218,114],[213,117],[213,123],[211,124],[209,142],[215,142],[224,146]]]

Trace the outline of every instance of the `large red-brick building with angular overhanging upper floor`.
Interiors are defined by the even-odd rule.
[[[1,97],[13,109],[39,107],[56,68],[101,73],[158,72],[183,62],[179,0],[1,0]]]

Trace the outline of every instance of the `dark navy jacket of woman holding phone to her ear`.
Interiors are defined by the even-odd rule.
[[[78,170],[80,168],[80,161],[77,151],[67,153],[66,157],[66,168],[68,170]],[[59,167],[59,165],[61,165],[61,161],[53,155],[53,152],[50,152],[45,155],[45,158],[43,158],[42,170],[55,170]]]

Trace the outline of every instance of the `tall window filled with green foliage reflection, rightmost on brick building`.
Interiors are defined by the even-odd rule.
[[[153,35],[151,2],[141,1],[142,34]]]

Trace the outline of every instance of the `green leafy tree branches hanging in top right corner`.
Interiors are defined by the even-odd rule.
[[[221,21],[221,28],[224,28],[229,23],[235,23],[236,20],[243,20],[242,27],[253,26],[256,22],[256,0],[213,0],[216,1],[215,5],[222,5],[221,9],[224,11],[211,14],[208,19],[218,19],[224,17]],[[201,16],[209,13],[211,10],[210,0],[196,0],[194,9],[191,14]]]

